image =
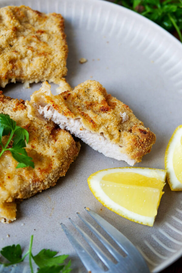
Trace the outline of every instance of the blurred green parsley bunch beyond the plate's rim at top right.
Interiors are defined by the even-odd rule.
[[[115,0],[147,17],[169,32],[177,31],[182,42],[182,0]]]

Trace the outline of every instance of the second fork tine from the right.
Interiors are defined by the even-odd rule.
[[[86,219],[84,219],[83,217],[81,217],[81,215],[77,212],[77,215],[79,216],[79,218],[86,224],[86,226],[93,232],[93,234],[95,234],[95,236],[99,239],[99,241],[101,241],[103,243],[103,245],[107,248],[107,250],[114,256],[114,258],[116,258],[117,261],[120,261],[122,256],[120,255],[120,253],[112,246],[112,244],[110,244],[110,242],[108,242],[103,235],[100,234],[99,231],[96,230],[95,227],[93,227],[88,221],[86,221]]]

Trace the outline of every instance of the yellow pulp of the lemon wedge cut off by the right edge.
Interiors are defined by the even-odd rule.
[[[174,149],[173,167],[177,179],[182,183],[182,137],[180,143],[177,143]]]

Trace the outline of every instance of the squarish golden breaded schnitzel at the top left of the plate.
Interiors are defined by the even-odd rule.
[[[0,8],[0,86],[20,81],[59,84],[66,76],[64,19],[24,5]]]

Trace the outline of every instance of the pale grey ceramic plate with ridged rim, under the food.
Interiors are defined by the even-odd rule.
[[[87,79],[95,79],[108,93],[128,104],[157,137],[150,154],[136,167],[164,169],[167,143],[174,129],[181,124],[180,42],[142,16],[104,1],[0,1],[0,7],[21,4],[41,12],[63,15],[69,46],[67,81],[76,86]],[[80,64],[81,57],[88,61]],[[40,83],[23,89],[22,84],[17,83],[9,84],[3,91],[7,96],[29,99],[39,87]],[[52,90],[55,87],[52,84]],[[154,226],[148,227],[109,211],[89,190],[87,178],[90,174],[105,168],[125,166],[125,162],[104,157],[81,142],[79,157],[71,164],[66,176],[55,187],[18,205],[15,222],[0,225],[1,248],[19,243],[26,251],[30,235],[34,234],[34,254],[42,248],[69,254],[74,268],[72,272],[85,273],[60,223],[66,224],[80,238],[68,217],[82,226],[76,212],[90,220],[83,209],[87,206],[112,223],[140,249],[152,272],[167,267],[182,255],[181,192],[172,192],[168,184],[165,185]],[[16,271],[29,272],[26,266],[20,268],[21,265]],[[5,272],[0,268],[2,271]]]

